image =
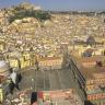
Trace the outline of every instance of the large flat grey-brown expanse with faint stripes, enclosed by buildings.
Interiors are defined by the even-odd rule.
[[[34,80],[33,80],[34,79]],[[21,89],[34,88],[35,91],[52,91],[73,88],[71,70],[27,70],[23,72]]]

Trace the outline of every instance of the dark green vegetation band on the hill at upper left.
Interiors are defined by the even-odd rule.
[[[25,9],[24,7],[15,7],[12,10],[12,14],[9,18],[9,22],[12,23],[15,20],[22,20],[24,18],[35,18],[38,21],[50,20],[50,14],[42,10]]]

